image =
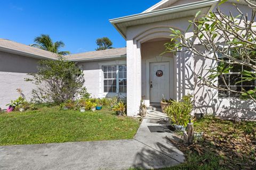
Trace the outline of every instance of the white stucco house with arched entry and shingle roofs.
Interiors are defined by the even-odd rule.
[[[188,20],[214,11],[219,0],[163,0],[146,11],[110,20],[126,40],[126,48],[73,54],[67,60],[76,62],[84,71],[85,87],[94,97],[119,96],[127,98],[127,115],[139,113],[140,101],[147,105],[165,98],[181,99],[194,94],[195,111],[223,117],[256,119],[254,103],[234,96],[221,97],[218,90],[202,86],[199,76],[208,74],[211,60],[189,53],[165,53],[170,42],[170,28],[185,33]],[[237,3],[241,10],[249,7],[243,1],[229,0],[222,11],[234,15]],[[250,12],[250,11],[246,11]],[[191,35],[193,28],[186,33]],[[0,39],[0,107],[19,96],[16,89],[30,96],[33,85],[23,79],[36,72],[38,60],[55,60],[56,56],[41,49]],[[158,76],[157,76],[158,75]],[[161,76],[159,76],[161,75]]]

